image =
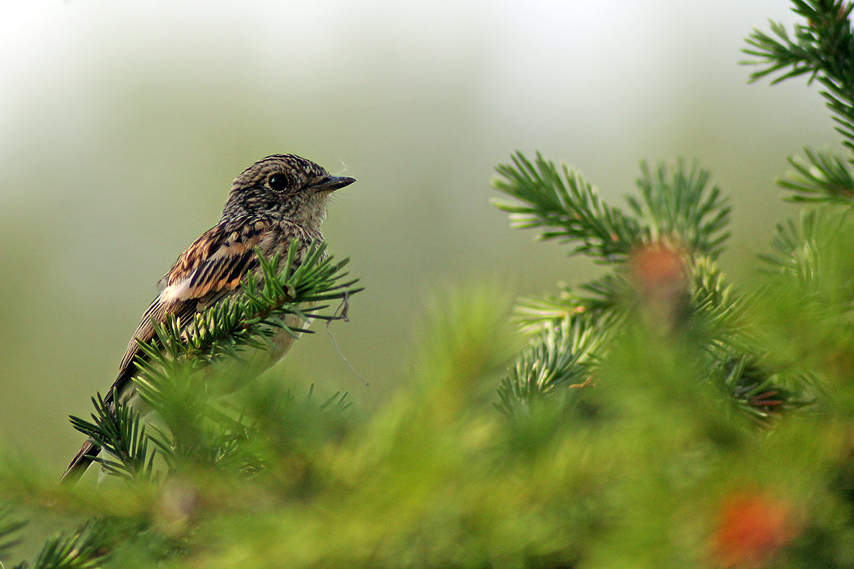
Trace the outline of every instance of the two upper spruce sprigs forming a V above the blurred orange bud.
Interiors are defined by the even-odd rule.
[[[494,200],[509,212],[512,227],[541,227],[542,240],[573,242],[570,254],[583,253],[600,264],[614,264],[643,243],[676,241],[697,255],[715,257],[728,238],[729,206],[717,186],[711,188],[709,172],[683,161],[675,167],[658,165],[652,171],[641,163],[637,180],[640,197],[628,196],[629,211],[607,205],[596,189],[576,171],[562,171],[537,153],[535,164],[518,152],[512,165],[499,165],[496,189],[523,204]],[[561,176],[563,174],[563,176]]]

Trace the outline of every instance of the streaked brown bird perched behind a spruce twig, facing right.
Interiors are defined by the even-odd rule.
[[[104,404],[114,408],[116,402],[132,398],[137,358],[145,357],[138,342],[154,340],[153,322],[175,316],[178,326],[183,322],[185,327],[197,312],[239,293],[243,277],[260,271],[256,248],[265,258],[282,253],[278,270],[284,270],[290,243],[298,240],[295,263],[299,263],[309,244],[323,238],[320,227],[331,193],[354,182],[352,177],[332,176],[295,154],[272,154],[249,165],[231,184],[219,223],[193,241],[158,282],[159,292],[127,345]],[[285,321],[289,326],[300,322],[299,316],[289,318]],[[277,334],[269,363],[284,356],[293,339],[284,330]],[[87,440],[60,482],[76,483],[100,452],[97,443]]]

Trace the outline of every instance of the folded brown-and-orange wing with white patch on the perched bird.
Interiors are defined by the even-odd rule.
[[[181,253],[172,269],[159,283],[161,291],[143,314],[139,327],[127,345],[119,375],[106,398],[111,403],[130,385],[137,371],[134,359],[140,350],[137,340],[154,338],[153,322],[164,322],[174,315],[180,322],[190,322],[196,311],[212,305],[240,285],[240,280],[258,264],[254,247],[266,236],[270,224],[266,221],[247,223],[236,220],[208,229]]]

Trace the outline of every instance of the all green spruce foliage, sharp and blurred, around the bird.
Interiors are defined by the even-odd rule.
[[[248,372],[222,360],[358,292],[322,247],[265,264],[190,337],[158,331],[137,382],[152,421],[98,399],[73,419],[109,483],[0,461],[0,559],[47,512],[67,529],[16,567],[854,566],[851,7],[793,4],[792,37],[748,38],[753,78],[822,84],[846,154],[790,160],[803,209],[752,282],[717,266],[729,208],[699,166],[642,165],[621,208],[516,154],[496,205],[602,276],[522,301],[516,327],[486,287],[436,293],[409,376],[365,416],[269,374],[230,393]]]

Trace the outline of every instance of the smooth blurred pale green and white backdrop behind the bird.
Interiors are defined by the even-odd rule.
[[[0,440],[60,473],[155,282],[233,177],[301,154],[358,179],[330,251],[366,287],[351,322],[276,373],[363,409],[407,381],[424,297],[481,280],[553,291],[595,267],[508,229],[494,165],[537,149],[612,200],[641,159],[696,158],[734,205],[749,278],[787,216],[775,177],[837,143],[816,87],[748,85],[743,38],[783,0],[0,0]]]

